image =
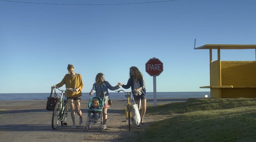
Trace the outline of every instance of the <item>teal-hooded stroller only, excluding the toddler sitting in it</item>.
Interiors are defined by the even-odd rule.
[[[92,105],[92,100],[93,99],[98,99],[99,100],[99,107],[100,109],[89,109],[90,106]],[[104,130],[104,127],[103,127],[103,116],[102,116],[102,108],[103,108],[103,100],[97,96],[91,98],[88,102],[88,116],[87,116],[87,120],[86,120],[86,123],[84,124],[84,127],[83,127],[83,131],[88,131],[88,129],[91,129],[91,126],[98,126],[98,131],[103,131]],[[96,125],[94,124],[89,124],[89,113],[90,111],[95,111],[95,112],[100,112],[99,114],[99,118],[98,118],[98,121],[96,123]]]

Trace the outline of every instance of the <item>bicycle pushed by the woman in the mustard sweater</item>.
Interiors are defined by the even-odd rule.
[[[57,86],[55,86],[58,90],[60,90]],[[52,87],[53,89],[54,87]],[[72,89],[72,88],[66,88],[66,90],[71,90],[75,93],[76,90]],[[59,93],[57,93],[60,98],[58,99],[59,101],[56,103],[56,106],[53,110],[53,114],[52,114],[52,129],[56,129],[58,126],[59,121],[61,121],[61,126],[63,125],[67,125],[66,119],[68,116],[68,100],[65,97],[65,99],[63,99],[63,95],[65,94],[66,90],[60,90],[61,91],[61,95]],[[65,95],[64,95],[65,96]]]

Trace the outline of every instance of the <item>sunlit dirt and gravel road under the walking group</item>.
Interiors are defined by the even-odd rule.
[[[157,104],[172,102],[183,102],[187,99],[158,99]],[[128,131],[128,122],[125,121],[123,99],[112,100],[113,105],[108,109],[107,129],[98,131],[98,125],[91,125],[91,130],[83,131],[79,126],[79,116],[76,114],[76,129],[71,129],[72,120],[70,113],[67,118],[67,126],[57,129],[51,126],[52,111],[45,109],[46,100],[29,101],[0,101],[0,139],[1,142],[126,142],[135,141],[131,139],[147,129],[151,122],[159,118],[145,115],[144,126],[136,129],[131,125]],[[82,100],[81,110],[83,122],[87,120],[88,100]],[[153,100],[147,100],[147,106],[153,106]]]

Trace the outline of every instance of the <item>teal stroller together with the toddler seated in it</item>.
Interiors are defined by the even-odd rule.
[[[87,123],[84,125],[84,131],[88,131],[88,129],[91,129],[91,124],[97,125],[98,123],[98,131],[103,131],[104,127],[102,125],[102,108],[103,108],[103,101],[99,97],[93,97],[88,102],[88,117],[87,117]],[[93,122],[92,122],[93,121]]]

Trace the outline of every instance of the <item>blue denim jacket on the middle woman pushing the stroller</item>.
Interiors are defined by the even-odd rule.
[[[96,92],[96,96],[100,97],[101,91],[102,91],[105,94],[105,96],[108,96],[109,95],[108,89],[113,91],[113,90],[117,90],[118,88],[119,88],[118,86],[113,87],[109,84],[109,82],[104,81],[102,85],[94,83],[93,88],[91,89],[91,92],[92,94]]]

